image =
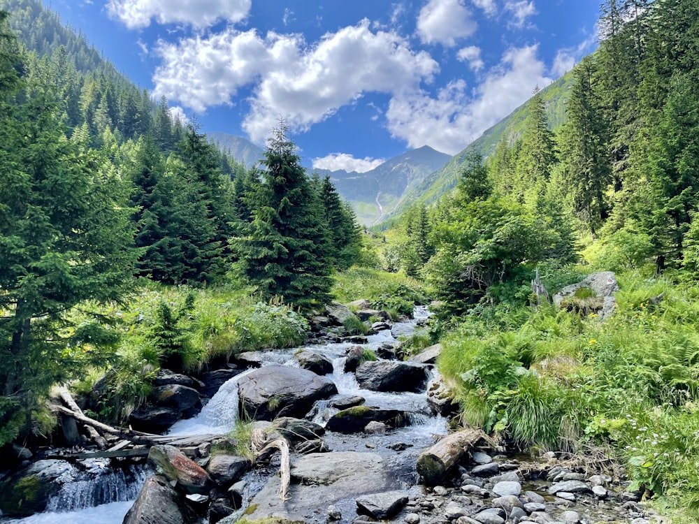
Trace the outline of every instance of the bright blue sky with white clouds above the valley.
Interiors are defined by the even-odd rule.
[[[52,0],[131,80],[203,132],[368,170],[455,154],[596,48],[598,0]]]

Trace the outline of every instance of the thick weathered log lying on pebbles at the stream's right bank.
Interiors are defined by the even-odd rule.
[[[428,486],[436,486],[468,451],[481,439],[481,430],[467,429],[440,439],[417,458],[417,472]]]

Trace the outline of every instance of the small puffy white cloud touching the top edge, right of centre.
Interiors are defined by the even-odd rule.
[[[456,41],[475,33],[477,24],[462,0],[429,0],[417,17],[417,34],[423,43],[454,47]]]

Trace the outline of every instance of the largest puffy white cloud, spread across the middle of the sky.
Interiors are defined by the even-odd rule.
[[[196,111],[231,104],[238,89],[253,86],[243,129],[261,143],[282,115],[292,131],[322,122],[364,92],[395,94],[430,82],[438,64],[410,50],[394,32],[369,29],[368,20],[324,35],[308,46],[298,35],[228,28],[179,44],[160,42],[163,64],[154,93]]]

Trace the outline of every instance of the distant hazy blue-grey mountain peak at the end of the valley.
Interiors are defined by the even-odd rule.
[[[449,161],[449,155],[428,145],[410,150],[366,173],[315,170],[329,175],[340,196],[349,201],[365,225],[377,224],[401,202],[407,191]]]

